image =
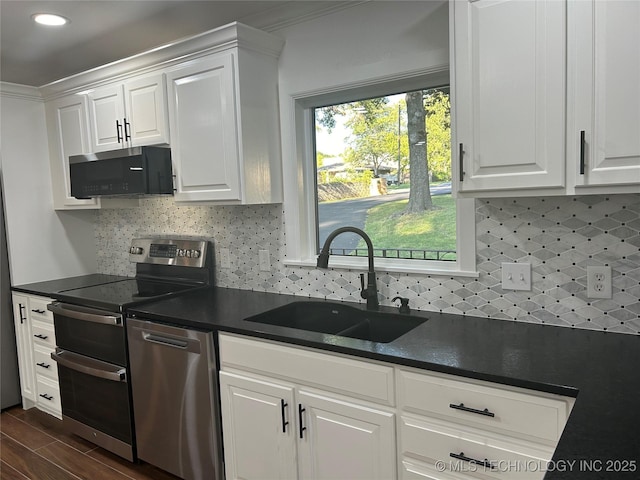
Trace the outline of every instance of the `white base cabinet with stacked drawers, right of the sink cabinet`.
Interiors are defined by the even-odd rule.
[[[545,474],[572,398],[398,368],[398,456],[404,480]]]

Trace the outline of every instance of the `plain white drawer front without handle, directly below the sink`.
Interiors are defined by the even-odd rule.
[[[220,365],[394,404],[393,368],[247,337],[220,335]]]

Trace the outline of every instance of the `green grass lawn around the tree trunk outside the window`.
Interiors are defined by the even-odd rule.
[[[376,249],[456,249],[456,206],[451,195],[433,196],[437,207],[423,213],[403,214],[408,200],[389,202],[367,212],[365,231]],[[358,245],[364,248],[364,242]],[[448,260],[455,260],[449,254]]]

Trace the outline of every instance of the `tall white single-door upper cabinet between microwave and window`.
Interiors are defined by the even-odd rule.
[[[233,28],[229,47],[166,71],[178,202],[282,201],[282,40],[239,24]]]

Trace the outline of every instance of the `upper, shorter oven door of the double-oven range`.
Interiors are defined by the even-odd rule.
[[[103,362],[127,365],[122,315],[61,302],[47,305],[53,312],[57,346]]]

